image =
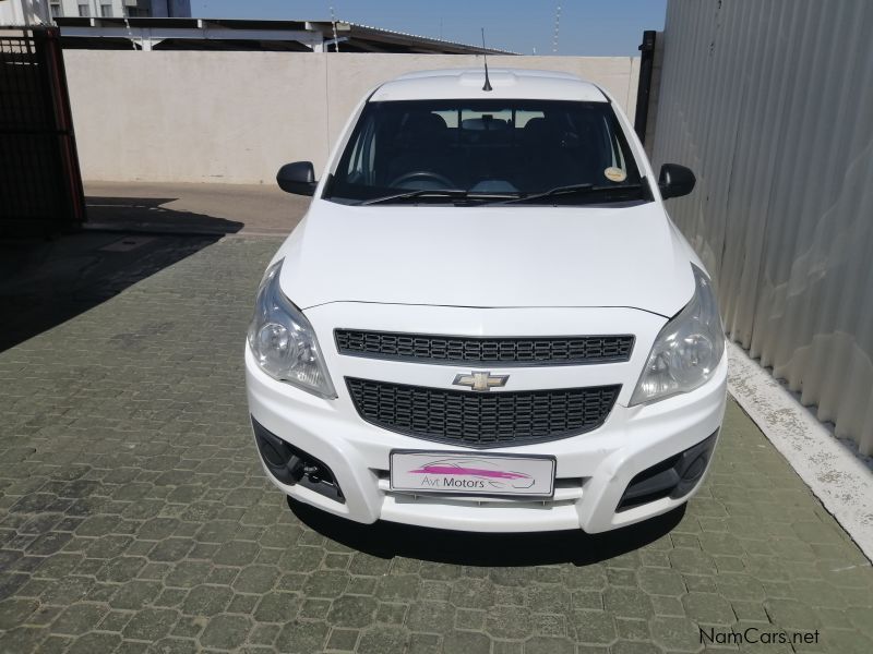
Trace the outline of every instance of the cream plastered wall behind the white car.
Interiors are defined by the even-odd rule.
[[[320,170],[367,90],[400,73],[481,65],[457,55],[65,50],[85,180],[273,183],[299,159]],[[575,73],[633,120],[638,58],[492,57]]]

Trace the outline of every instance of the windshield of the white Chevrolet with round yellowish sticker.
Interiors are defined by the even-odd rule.
[[[647,197],[608,102],[369,102],[324,194],[346,204],[527,197],[548,204]]]

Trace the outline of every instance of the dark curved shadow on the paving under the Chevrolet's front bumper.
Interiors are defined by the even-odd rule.
[[[394,522],[360,524],[288,498],[294,514],[337,543],[380,558],[395,556],[461,566],[587,566],[638,549],[667,535],[685,514],[685,505],[646,522],[601,534],[583,531],[470,533]]]

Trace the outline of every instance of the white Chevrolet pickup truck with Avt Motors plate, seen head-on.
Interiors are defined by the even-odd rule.
[[[710,279],[614,100],[543,71],[404,75],[350,117],[246,346],[271,481],[331,513],[601,532],[686,501],[725,412]]]

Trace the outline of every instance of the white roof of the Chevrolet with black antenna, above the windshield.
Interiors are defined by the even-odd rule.
[[[490,92],[482,90],[483,68],[408,73],[376,88],[370,101],[461,98],[609,101],[595,84],[570,73],[491,69],[488,76],[492,87]]]

